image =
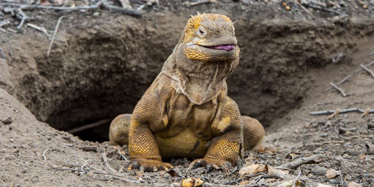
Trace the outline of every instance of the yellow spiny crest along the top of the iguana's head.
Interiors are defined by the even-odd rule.
[[[197,28],[199,28],[200,23],[204,20],[231,22],[230,18],[221,14],[200,14],[199,12],[197,12],[196,16],[191,15],[191,18],[188,19],[187,27],[196,30]]]

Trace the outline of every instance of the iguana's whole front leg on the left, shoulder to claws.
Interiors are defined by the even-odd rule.
[[[129,134],[129,153],[131,164],[129,169],[139,168],[140,171],[168,170],[173,168],[161,161],[159,149],[152,134],[164,128],[164,104],[154,93],[145,94],[136,105],[131,116]]]

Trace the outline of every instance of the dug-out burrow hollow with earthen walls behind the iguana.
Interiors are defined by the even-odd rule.
[[[108,21],[111,19],[111,21]],[[62,25],[50,56],[49,41],[35,33],[10,39],[8,77],[1,88],[15,95],[37,119],[83,140],[107,141],[112,118],[131,113],[172,52],[186,18],[131,17]],[[158,24],[154,24],[157,22]],[[65,26],[65,27],[64,27]],[[243,115],[264,126],[300,105],[313,77],[339,52],[355,51],[355,38],[372,34],[361,23],[239,21],[241,61],[228,80],[228,94]],[[16,73],[17,72],[17,73]],[[84,130],[79,127],[91,124]]]

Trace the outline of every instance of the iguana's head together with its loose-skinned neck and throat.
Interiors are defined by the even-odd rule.
[[[227,90],[226,77],[239,64],[239,47],[231,20],[220,14],[198,14],[187,22],[162,74],[175,91],[195,104]]]

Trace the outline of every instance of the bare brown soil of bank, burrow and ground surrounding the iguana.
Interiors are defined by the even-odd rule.
[[[362,16],[365,12],[357,14],[359,17],[320,13],[311,18],[290,16],[286,11],[270,14],[271,10],[278,10],[277,6],[245,5],[263,10],[266,14],[261,17],[256,11],[246,13],[238,3],[226,5],[201,5],[199,11],[222,13],[235,20],[241,61],[227,80],[229,96],[244,115],[259,119],[267,127],[264,146],[276,150],[246,152],[246,164],[275,167],[290,162],[285,157],[290,152],[301,156],[323,153],[326,157],[321,163],[302,165],[290,174],[296,177],[300,171],[319,183],[341,183],[339,177],[329,180],[311,172],[319,166],[340,170],[347,183],[373,185],[370,174],[374,173],[374,156],[360,155],[365,153],[365,144],[374,143],[373,130],[365,129],[374,123],[373,114],[363,118],[358,113],[348,113],[326,119],[309,112],[374,109],[374,79],[366,71],[339,85],[349,93],[348,97],[334,89],[324,92],[330,87],[329,82],[337,82],[360,69],[360,64],[374,60],[374,56],[368,56],[374,51],[374,20]],[[105,142],[109,123],[76,136],[63,131],[132,112],[197,8],[179,10],[177,4],[160,5],[142,18],[108,12],[50,13],[48,17],[43,16],[46,12],[27,12],[29,22],[49,30],[55,28],[61,15],[66,15],[57,34],[60,41],[54,42],[50,56],[46,55],[49,39],[30,27],[18,34],[1,35],[0,47],[6,58],[0,58],[0,186],[140,185],[131,179],[137,177],[137,172],[126,169],[117,174],[132,182],[56,169],[80,169],[78,166],[87,162],[109,172],[100,156],[104,151],[115,170],[128,164]],[[332,63],[339,53],[346,57]],[[13,122],[5,124],[7,117]],[[356,131],[337,135],[334,131],[338,132],[339,127]],[[96,150],[84,151],[86,147]],[[123,149],[127,153],[127,147]],[[338,160],[339,156],[346,160]],[[207,183],[225,184],[239,179],[235,169],[228,175],[223,171],[206,174],[204,170],[188,173],[188,160],[170,162],[181,176],[194,176]],[[142,179],[152,182],[143,183],[145,186],[182,180],[162,173],[146,173]],[[302,185],[316,184],[307,181]]]

